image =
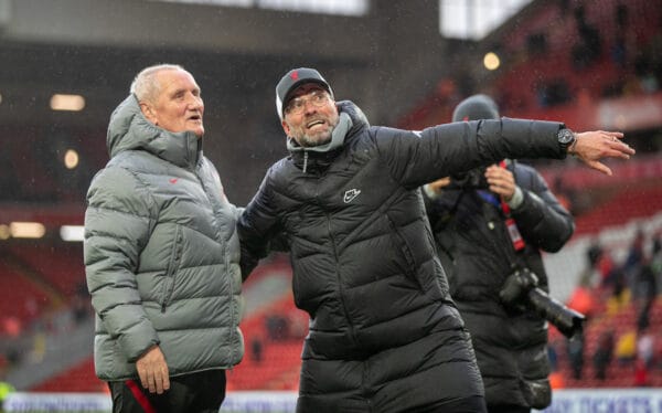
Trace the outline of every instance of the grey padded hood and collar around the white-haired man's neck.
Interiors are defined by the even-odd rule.
[[[180,167],[195,166],[202,151],[202,138],[192,131],[171,133],[147,120],[134,94],[110,115],[106,145],[110,158],[139,149]]]

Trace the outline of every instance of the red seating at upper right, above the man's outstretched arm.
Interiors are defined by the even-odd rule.
[[[586,129],[595,125],[585,125],[576,112],[584,108],[583,100],[591,102],[596,106],[602,98],[606,89],[617,84],[624,83],[628,77],[636,77],[633,70],[634,53],[627,54],[628,64],[621,70],[612,61],[610,49],[615,45],[616,24],[615,10],[618,0],[586,0],[581,1],[586,11],[586,21],[599,27],[601,49],[599,57],[589,67],[577,70],[573,66],[572,50],[575,39],[578,38],[576,22],[573,15],[577,3],[569,3],[565,13],[559,9],[558,2],[537,2],[535,9],[522,19],[513,19],[495,35],[485,42],[496,43],[504,59],[501,68],[488,82],[481,84],[482,88],[492,91],[494,98],[501,106],[505,116],[565,120],[570,127]],[[655,2],[633,0],[627,2],[629,10],[628,23],[624,29],[628,33],[628,47],[642,49],[659,31],[659,21],[662,8]],[[528,53],[527,38],[543,33],[547,49],[541,53]],[[543,107],[538,102],[538,89],[543,82],[548,83],[563,80],[567,85],[568,103],[560,106]],[[439,85],[455,84],[451,78],[442,78]],[[407,129],[421,129],[429,125],[448,123],[457,104],[457,96],[448,93],[448,88],[437,87],[417,105],[410,113],[404,115],[397,126]],[[477,91],[479,92],[479,91]],[[581,96],[581,97],[580,97]],[[560,108],[564,116],[555,114]],[[569,119],[568,113],[573,113]],[[589,121],[590,124],[591,121]]]

